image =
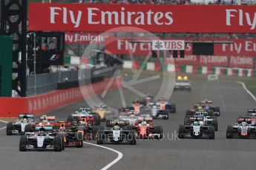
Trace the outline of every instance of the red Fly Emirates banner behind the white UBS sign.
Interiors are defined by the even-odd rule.
[[[145,40],[145,38],[134,39],[140,41]],[[180,39],[185,41],[191,40],[188,38]],[[105,49],[114,54],[148,55],[148,52],[151,52],[151,43],[148,42],[131,42],[131,38],[111,37],[111,43],[108,44],[108,40],[109,38],[107,38]],[[147,40],[150,39],[148,38]],[[153,38],[151,38],[151,40],[153,40]],[[228,41],[228,39],[199,38],[198,41]],[[233,44],[214,44],[214,55],[256,56],[256,38],[230,39],[229,41],[233,41]],[[192,44],[186,44],[185,55],[192,55],[192,47]]]

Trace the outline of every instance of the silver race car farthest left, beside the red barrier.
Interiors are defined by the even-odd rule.
[[[28,114],[19,115],[19,120],[9,122],[6,126],[6,135],[24,135],[26,125],[34,122],[34,116]]]

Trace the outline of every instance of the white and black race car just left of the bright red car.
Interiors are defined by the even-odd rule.
[[[99,129],[96,135],[96,143],[128,143],[136,145],[135,130],[122,129],[119,126],[114,126],[113,129]]]

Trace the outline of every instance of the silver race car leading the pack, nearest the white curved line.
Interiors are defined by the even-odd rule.
[[[52,127],[36,127],[36,132],[27,132],[19,140],[19,151],[27,150],[54,150],[61,152],[63,148],[62,137],[53,135]]]

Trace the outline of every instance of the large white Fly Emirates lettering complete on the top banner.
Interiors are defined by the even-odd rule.
[[[171,12],[131,12],[121,7],[120,11],[102,11],[96,7],[88,7],[88,24],[114,25],[171,25],[174,20]],[[62,16],[63,15],[63,16]],[[68,24],[68,18],[74,27],[79,27],[82,11],[74,13],[66,7],[50,7],[50,23],[55,24],[56,18],[62,17],[63,24]]]

